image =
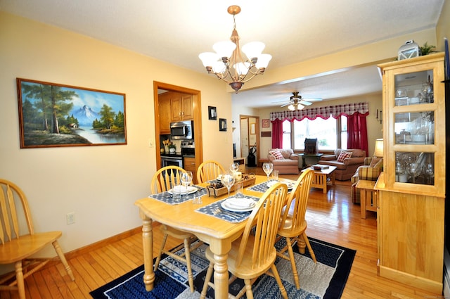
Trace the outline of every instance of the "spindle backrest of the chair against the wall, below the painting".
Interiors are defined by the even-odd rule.
[[[20,235],[34,234],[30,207],[25,193],[19,186],[6,179],[0,179],[0,241],[2,244],[19,238]],[[23,215],[18,217],[18,213]]]

